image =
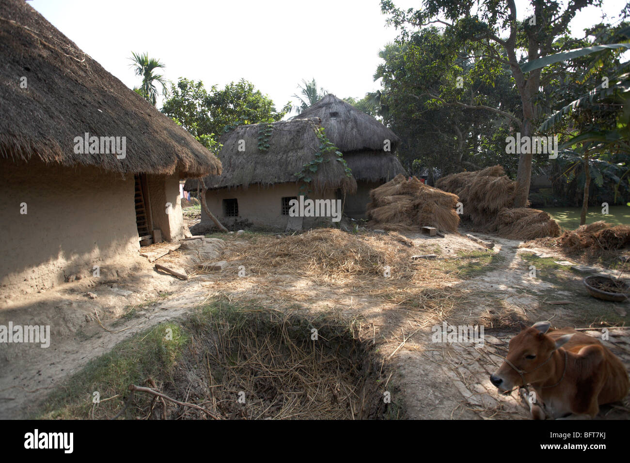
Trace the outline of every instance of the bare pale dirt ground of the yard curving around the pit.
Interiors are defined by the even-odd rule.
[[[193,225],[195,220],[187,222]],[[387,296],[382,288],[362,280],[330,282],[297,269],[250,272],[248,257],[260,234],[244,233],[223,235],[224,244],[212,241],[209,255],[227,261],[219,272],[192,271],[191,256],[197,251],[180,248],[156,263],[186,268],[185,281],[144,261],[133,277],[105,282],[84,278],[14,301],[0,309],[0,324],[9,320],[50,324],[52,343],[50,348],[0,345],[0,418],[26,416],[91,358],[151,326],[186,317],[213,298],[251,300],[280,311],[334,310],[360,317],[360,331],[372,334],[382,363],[391,367],[384,387],[398,391],[392,401],[403,404],[408,418],[528,418],[516,392],[498,394],[489,380],[507,353],[508,340],[520,331],[519,323],[549,319],[557,328],[583,328],[599,338],[601,328],[625,326],[628,304],[589,297],[581,283],[584,275],[564,265],[568,259],[549,249],[475,235],[491,239],[495,247],[485,249],[457,234],[406,234],[413,241],[413,253],[437,256],[418,260],[418,265],[442,272],[443,280],[437,286],[433,282],[418,300],[401,299],[393,286]],[[282,248],[284,237],[276,239]],[[246,271],[244,277],[238,275],[240,266]],[[96,299],[90,299],[88,292]],[[558,301],[568,303],[553,304]],[[484,345],[433,342],[432,328],[443,322],[483,324]],[[604,343],[630,366],[629,330],[610,329],[610,340]],[[602,408],[599,418],[630,418],[627,397],[622,404]]]

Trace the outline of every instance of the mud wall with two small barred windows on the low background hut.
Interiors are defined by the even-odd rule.
[[[233,226],[235,223],[245,226],[253,226],[261,229],[284,231],[289,222],[289,215],[282,214],[282,198],[299,197],[300,187],[295,182],[277,183],[271,186],[249,185],[248,188],[221,188],[208,190],[206,201],[208,209],[225,226]],[[223,200],[236,198],[238,200],[238,217],[227,217]],[[335,200],[335,190],[327,190],[323,194],[311,194],[311,199]],[[319,217],[305,217],[303,227],[311,227],[320,219]],[[201,223],[212,226],[210,220],[202,208]]]

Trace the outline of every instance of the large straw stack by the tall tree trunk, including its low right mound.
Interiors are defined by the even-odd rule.
[[[516,182],[501,166],[440,178],[436,186],[462,202],[462,220],[509,239],[558,236],[560,227],[549,214],[527,207],[513,208]]]

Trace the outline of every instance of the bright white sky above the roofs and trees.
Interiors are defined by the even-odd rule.
[[[454,0],[456,1],[456,0]],[[379,0],[33,0],[47,20],[101,66],[132,88],[140,77],[129,67],[131,52],[149,52],[166,64],[164,75],[202,80],[205,88],[244,77],[280,109],[302,79],[340,98],[379,88],[372,75],[377,53],[398,33],[386,27]],[[420,1],[398,0],[403,8]],[[517,0],[519,19],[527,16]],[[623,0],[605,0],[619,13]],[[584,9],[573,35],[599,21]],[[161,104],[158,103],[158,107]]]

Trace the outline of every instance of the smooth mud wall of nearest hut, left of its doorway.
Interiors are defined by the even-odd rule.
[[[0,294],[37,292],[138,257],[134,176],[0,158]],[[26,203],[26,214],[20,214]]]

